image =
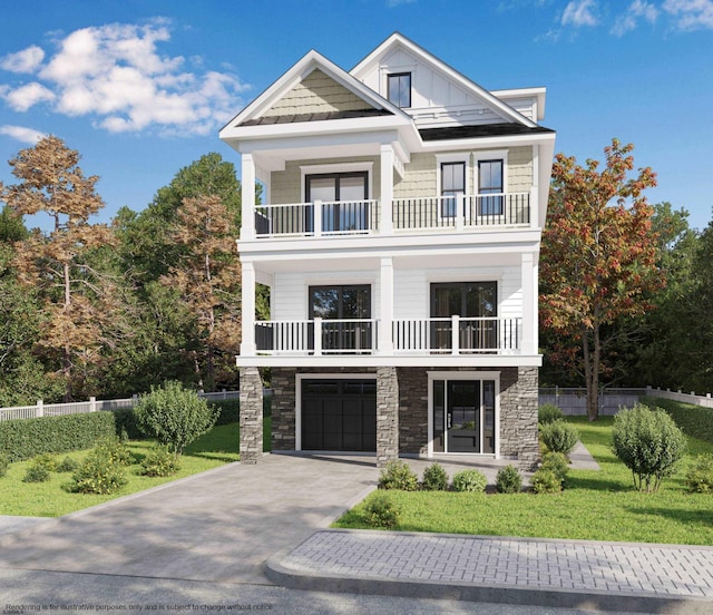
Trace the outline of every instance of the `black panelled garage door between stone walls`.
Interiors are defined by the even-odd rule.
[[[375,380],[303,380],[302,450],[377,450]]]

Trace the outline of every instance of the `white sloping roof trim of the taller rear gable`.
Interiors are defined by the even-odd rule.
[[[537,127],[537,124],[524,115],[519,114],[512,107],[500,100],[497,96],[492,95],[487,89],[482,88],[461,72],[457,71],[446,62],[439,60],[436,56],[408,39],[400,32],[394,32],[387,40],[384,40],[377,49],[369,53],[363,60],[361,60],[351,71],[350,75],[356,77],[356,79],[364,79],[368,74],[375,70],[379,67],[379,62],[388,56],[394,49],[399,47],[406,49],[409,53],[426,64],[431,70],[434,70],[448,80],[457,84],[463,88],[475,98],[481,100],[487,107],[491,108],[497,115],[499,115],[505,121],[515,124],[521,124],[529,128]]]

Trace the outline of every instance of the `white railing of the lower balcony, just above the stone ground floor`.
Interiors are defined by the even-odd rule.
[[[270,355],[372,354],[378,328],[370,319],[261,321],[255,345]],[[517,354],[521,335],[522,319],[398,319],[391,341],[394,354]]]

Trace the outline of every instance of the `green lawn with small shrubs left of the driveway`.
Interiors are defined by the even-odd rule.
[[[270,433],[270,418],[265,418],[265,432]],[[136,463],[127,468],[128,482],[110,496],[71,494],[65,488],[71,482],[70,474],[52,472],[48,482],[22,482],[32,460],[11,463],[7,476],[0,478],[0,515],[23,517],[59,517],[102,504],[121,496],[143,491],[164,482],[217,468],[240,459],[240,431],[237,423],[214,427],[208,433],[186,447],[180,458],[180,470],[172,477],[149,478],[139,476],[140,460],[154,445],[153,440],[131,440],[128,448]],[[270,450],[268,439],[265,450]],[[65,457],[81,461],[88,450],[53,455],[60,462]]]

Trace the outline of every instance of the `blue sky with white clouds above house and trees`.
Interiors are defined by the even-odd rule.
[[[350,70],[400,31],[487,89],[546,86],[555,150],[613,137],[702,228],[713,207],[713,0],[2,2],[0,180],[37,135],[78,149],[110,219],[208,152],[310,49]],[[38,222],[39,223],[39,222]]]

